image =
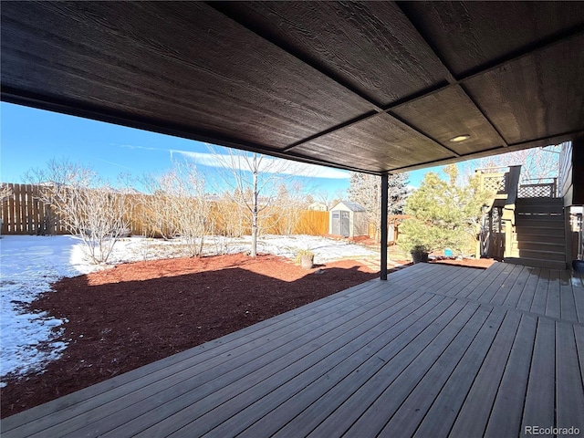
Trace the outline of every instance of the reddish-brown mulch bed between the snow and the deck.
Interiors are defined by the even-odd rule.
[[[63,356],[12,376],[1,417],[217,339],[375,278],[352,260],[307,271],[275,255],[181,258],[63,278],[31,308],[67,318]]]

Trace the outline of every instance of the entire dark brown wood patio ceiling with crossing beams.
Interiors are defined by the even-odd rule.
[[[193,140],[382,173],[584,133],[579,2],[3,2],[1,15],[3,100]]]

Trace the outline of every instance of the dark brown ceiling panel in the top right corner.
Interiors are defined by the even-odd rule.
[[[582,2],[400,2],[455,76],[584,24]]]

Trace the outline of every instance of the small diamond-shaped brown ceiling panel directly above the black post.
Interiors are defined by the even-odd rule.
[[[452,152],[444,150],[439,144],[387,114],[379,114],[332,132],[297,147],[294,152],[374,172],[391,171],[454,156]]]

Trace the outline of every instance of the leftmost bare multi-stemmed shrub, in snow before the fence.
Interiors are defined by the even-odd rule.
[[[81,238],[93,263],[106,263],[120,237],[129,233],[126,192],[88,167],[53,159],[46,169],[29,171],[27,179],[38,184],[40,201],[55,210],[66,230]]]

